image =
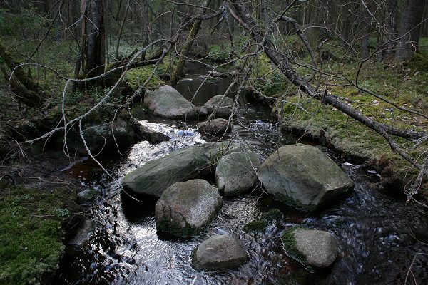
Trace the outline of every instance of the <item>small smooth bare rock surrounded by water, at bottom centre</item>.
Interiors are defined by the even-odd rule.
[[[226,234],[210,237],[192,252],[192,267],[198,270],[235,268],[246,261],[243,244]]]

